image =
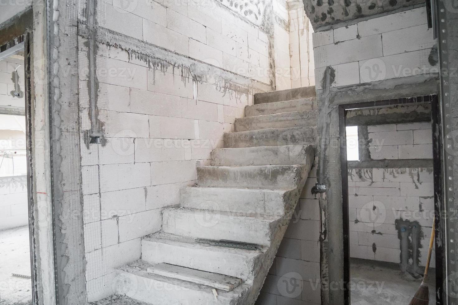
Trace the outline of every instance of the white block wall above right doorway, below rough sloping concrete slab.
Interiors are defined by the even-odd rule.
[[[421,7],[314,33],[317,89],[327,66],[336,71],[333,87],[437,74],[428,60],[436,42],[425,15]]]

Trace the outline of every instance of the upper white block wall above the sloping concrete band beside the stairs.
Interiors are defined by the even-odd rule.
[[[255,14],[245,14],[234,5],[224,5],[226,3],[213,0],[147,0],[125,7],[120,0],[114,0],[113,4],[106,4],[105,26],[266,84],[270,84],[273,76],[277,89],[290,88],[287,30],[274,23],[269,35],[274,38],[275,45],[273,54],[269,54],[269,35],[258,28],[263,17],[256,19],[254,16],[259,15],[258,11],[264,13],[264,3],[253,7]],[[243,3],[241,5],[244,10],[249,9]],[[286,3],[278,0],[273,1],[273,5],[274,13],[287,22]],[[268,59],[259,60],[260,56],[273,57],[276,71],[270,70]],[[123,86],[120,83],[115,85]],[[130,87],[146,89],[139,86]]]

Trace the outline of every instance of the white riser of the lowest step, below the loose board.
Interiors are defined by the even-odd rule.
[[[116,293],[125,294],[132,299],[148,304],[215,304],[215,297],[210,288],[195,290],[178,284],[168,283],[153,278],[145,278],[123,271],[118,271],[115,281],[118,283]],[[240,295],[238,297],[240,298]],[[234,303],[236,299],[237,295],[232,295],[231,297],[221,295],[221,297],[218,298],[218,304],[240,304]]]

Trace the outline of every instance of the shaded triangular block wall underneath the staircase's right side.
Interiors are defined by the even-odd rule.
[[[323,201],[311,193],[315,184],[316,166],[313,166],[262,287],[258,305],[321,304],[320,204]]]

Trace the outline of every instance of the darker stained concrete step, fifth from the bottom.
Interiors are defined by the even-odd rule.
[[[197,185],[204,187],[296,188],[301,182],[304,166],[199,166]]]

